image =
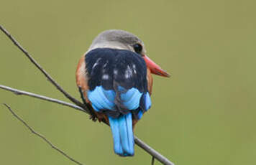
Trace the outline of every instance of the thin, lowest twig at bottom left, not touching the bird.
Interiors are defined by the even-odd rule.
[[[4,103],[4,105],[9,109],[9,111],[12,113],[12,115],[14,115],[15,118],[17,118],[19,121],[21,121],[24,126],[26,126],[32,133],[34,133],[36,136],[42,138],[43,141],[45,141],[47,144],[49,144],[49,146],[51,146],[53,149],[55,149],[56,151],[58,151],[60,154],[63,154],[63,156],[65,156],[66,158],[70,159],[70,161],[75,162],[76,164],[79,165],[83,165],[81,164],[79,161],[76,161],[75,159],[73,159],[72,157],[68,156],[68,154],[66,154],[64,151],[62,151],[60,148],[58,148],[57,146],[53,145],[47,138],[45,138],[45,136],[41,135],[40,133],[37,133],[31,126],[29,126],[21,117],[19,117],[19,115],[17,115],[17,113],[14,113],[14,111],[12,110],[12,108],[7,105],[6,103]]]

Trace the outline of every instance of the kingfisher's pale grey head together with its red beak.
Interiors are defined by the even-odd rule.
[[[130,50],[141,55],[145,60],[146,65],[150,68],[150,71],[155,75],[160,75],[163,77],[170,77],[168,72],[165,72],[160,66],[155,64],[146,55],[145,45],[141,39],[132,33],[126,32],[124,30],[111,29],[101,32],[91,44],[89,50],[96,48],[112,48],[119,50]]]

